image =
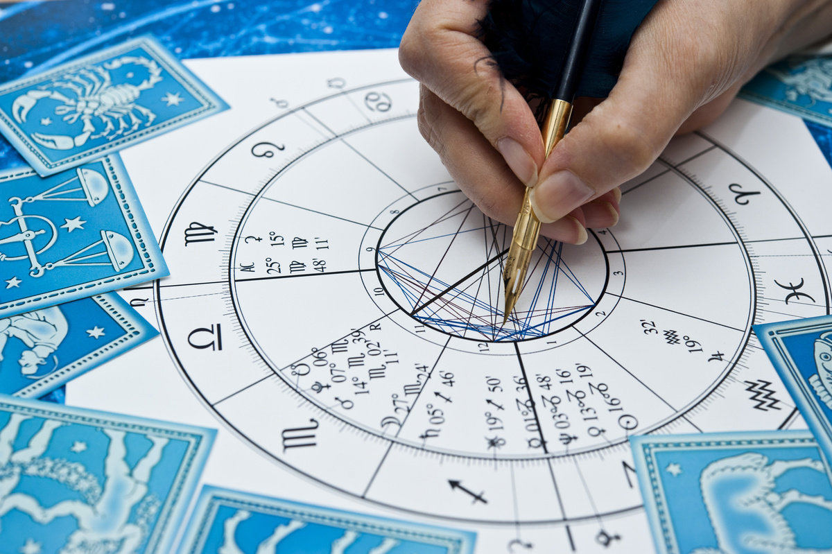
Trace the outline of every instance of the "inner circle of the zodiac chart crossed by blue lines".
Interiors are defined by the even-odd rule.
[[[597,304],[608,265],[595,237],[580,246],[541,237],[518,304],[503,324],[511,240],[511,227],[455,190],[403,210],[379,240],[376,267],[387,294],[418,324],[464,339],[537,339]]]

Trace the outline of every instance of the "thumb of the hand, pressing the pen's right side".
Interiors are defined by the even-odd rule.
[[[645,171],[703,101],[707,64],[676,64],[655,42],[631,46],[621,77],[555,146],[532,189],[544,222],[564,215]],[[679,67],[685,66],[685,67]],[[712,92],[712,91],[711,91]]]

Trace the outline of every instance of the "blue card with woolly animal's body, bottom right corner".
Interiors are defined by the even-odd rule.
[[[656,552],[832,552],[832,472],[808,431],[630,443]]]

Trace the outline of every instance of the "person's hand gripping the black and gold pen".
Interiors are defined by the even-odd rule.
[[[618,186],[672,136],[713,121],[762,67],[832,32],[832,0],[660,0],[609,97],[578,99],[544,161],[532,111],[476,38],[487,10],[488,0],[416,9],[399,61],[422,83],[419,131],[486,215],[513,225],[525,184],[541,234],[576,244],[617,223]]]

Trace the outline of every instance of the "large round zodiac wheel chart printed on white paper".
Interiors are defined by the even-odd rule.
[[[161,332],[243,442],[478,552],[649,552],[629,437],[799,418],[751,325],[829,313],[832,231],[730,144],[677,138],[619,225],[541,238],[503,325],[511,228],[424,144],[418,84],[321,82],[230,136],[161,240]]]

